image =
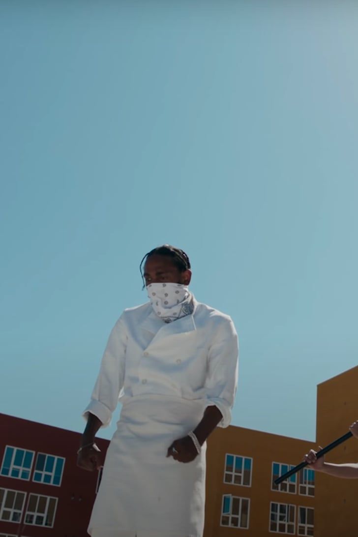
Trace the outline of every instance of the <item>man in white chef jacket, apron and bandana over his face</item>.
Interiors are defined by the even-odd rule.
[[[78,465],[93,470],[96,432],[122,403],[88,531],[92,537],[201,537],[206,439],[230,423],[237,334],[229,316],[189,291],[184,251],[159,246],[140,269],[150,302],[125,310],[115,324],[84,412]]]

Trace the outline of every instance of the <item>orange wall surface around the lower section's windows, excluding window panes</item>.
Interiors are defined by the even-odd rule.
[[[210,436],[207,451],[207,500],[204,537],[267,537],[271,502],[296,506],[295,535],[297,535],[298,506],[314,507],[315,497],[272,490],[273,462],[295,466],[313,442],[230,426],[217,429]],[[251,487],[224,483],[227,453],[252,458]],[[231,494],[250,499],[249,528],[221,526],[223,495]],[[280,533],[276,533],[280,534]],[[316,534],[315,534],[316,535]]]

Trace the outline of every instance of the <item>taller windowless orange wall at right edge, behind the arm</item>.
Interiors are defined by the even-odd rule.
[[[317,445],[326,446],[358,419],[358,366],[317,387]],[[358,440],[351,438],[326,455],[327,462],[357,462]],[[358,533],[358,480],[317,473],[317,537],[353,537]]]

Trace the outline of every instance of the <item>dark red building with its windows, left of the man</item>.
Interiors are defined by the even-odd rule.
[[[76,466],[81,434],[4,414],[0,430],[0,537],[88,537],[100,471]]]

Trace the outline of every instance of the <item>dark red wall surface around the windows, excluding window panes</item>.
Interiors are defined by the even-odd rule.
[[[21,523],[0,520],[0,534],[25,537],[87,537],[86,528],[96,497],[98,471],[92,473],[76,466],[76,452],[81,434],[3,414],[0,414],[0,430],[0,463],[3,462],[6,445],[35,452],[29,481],[0,475],[0,488],[27,494]],[[98,439],[97,444],[103,456],[108,443],[107,440]],[[60,487],[33,481],[38,453],[65,459]],[[53,528],[24,525],[30,493],[58,498]]]

